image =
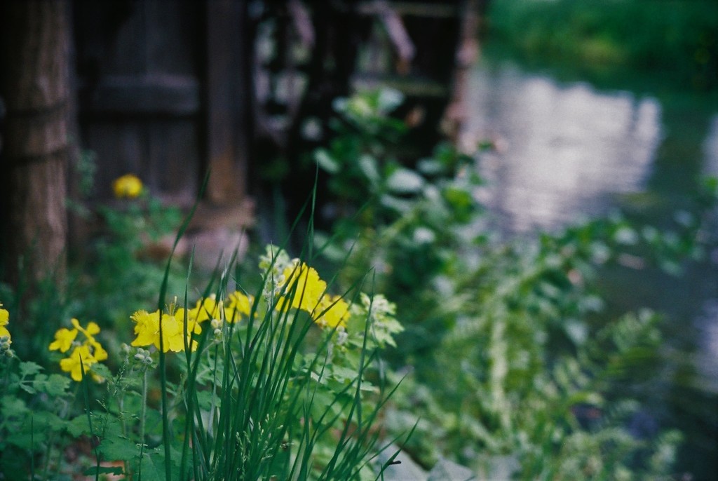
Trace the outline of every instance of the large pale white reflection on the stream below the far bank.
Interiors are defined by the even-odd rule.
[[[516,67],[476,70],[467,93],[468,139],[482,157],[485,202],[508,230],[556,228],[605,211],[607,197],[645,186],[661,141],[661,106],[630,93],[559,85]]]

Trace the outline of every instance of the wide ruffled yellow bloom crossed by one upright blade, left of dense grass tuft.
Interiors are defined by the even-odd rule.
[[[137,335],[133,346],[146,347],[154,345],[159,349],[159,310],[149,313],[137,311],[131,319],[135,322],[134,333]],[[174,314],[162,313],[162,347],[164,352],[181,352],[185,350],[185,309],[177,309]],[[195,319],[187,318],[187,342],[191,349],[197,349],[197,342],[192,341],[192,333],[199,334],[202,327]]]

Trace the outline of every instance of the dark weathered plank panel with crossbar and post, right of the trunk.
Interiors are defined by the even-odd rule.
[[[75,1],[80,136],[98,164],[95,199],[133,172],[187,205],[246,194],[244,2]]]

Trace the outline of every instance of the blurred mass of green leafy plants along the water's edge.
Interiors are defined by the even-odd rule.
[[[342,144],[365,145],[357,137]],[[372,197],[354,206],[356,223],[337,220],[322,239],[329,259],[351,251],[342,282],[372,267],[377,286],[406,315],[390,358],[410,374],[392,398],[386,429],[416,426],[405,448],[426,467],[449,455],[486,477],[665,475],[681,435],[632,427],[651,413],[630,396],[658,360],[661,317],[629,313],[599,324],[604,302],[595,279],[611,264],[676,273],[699,258],[715,180],[694,214],[679,213],[661,230],[612,215],[505,242],[482,218],[472,162],[439,147],[416,169],[402,167],[416,182],[401,193],[391,190],[389,170],[378,169],[378,182],[352,177]],[[344,172],[335,172],[342,182]]]

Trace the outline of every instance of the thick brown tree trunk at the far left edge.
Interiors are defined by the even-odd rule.
[[[0,2],[0,165],[5,277],[18,286],[65,271],[68,4]],[[32,285],[32,284],[30,284]]]

